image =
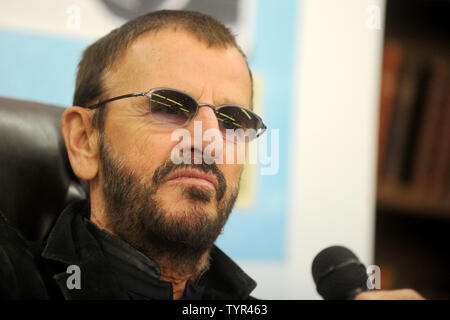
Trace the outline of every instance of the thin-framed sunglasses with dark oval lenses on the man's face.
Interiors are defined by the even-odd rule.
[[[87,108],[96,109],[106,103],[132,97],[147,97],[150,114],[162,123],[185,126],[197,115],[200,107],[213,109],[223,137],[232,142],[249,142],[264,133],[266,126],[256,113],[245,107],[224,104],[214,106],[200,103],[189,94],[170,88],[155,88],[143,93],[114,97]]]

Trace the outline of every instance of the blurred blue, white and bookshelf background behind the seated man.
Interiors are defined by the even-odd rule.
[[[71,106],[83,50],[158,9],[223,21],[254,72],[268,161],[217,244],[256,297],[319,298],[311,262],[338,244],[382,289],[450,298],[449,1],[3,0],[0,96]]]

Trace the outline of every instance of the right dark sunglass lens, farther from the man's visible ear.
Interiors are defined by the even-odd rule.
[[[261,127],[261,120],[250,110],[238,106],[224,106],[217,112],[223,134],[245,141],[253,140]],[[244,137],[245,136],[245,137]]]

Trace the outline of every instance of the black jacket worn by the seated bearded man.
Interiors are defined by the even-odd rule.
[[[130,299],[87,227],[85,202],[66,207],[48,238],[28,242],[0,215],[1,299]],[[81,289],[69,289],[70,265],[81,271]],[[196,282],[202,299],[251,299],[256,283],[217,247]],[[158,297],[149,297],[158,299]]]

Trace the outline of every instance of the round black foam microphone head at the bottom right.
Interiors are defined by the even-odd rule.
[[[320,251],[311,269],[317,292],[325,300],[353,299],[368,290],[366,267],[347,248],[332,246]]]

